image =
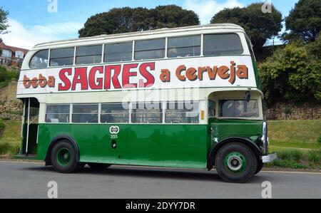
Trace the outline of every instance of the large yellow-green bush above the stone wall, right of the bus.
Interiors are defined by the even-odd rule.
[[[321,100],[320,58],[310,56],[307,47],[288,44],[260,65],[265,100],[313,102]]]

